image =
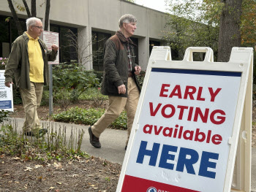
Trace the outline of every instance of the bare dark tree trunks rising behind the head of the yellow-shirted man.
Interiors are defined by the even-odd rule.
[[[21,28],[20,21],[18,19],[18,15],[16,13],[15,7],[13,6],[12,0],[7,0],[7,1],[8,1],[8,4],[9,4],[10,11],[12,12],[13,20],[15,21],[15,25],[18,29],[18,34],[21,35],[21,34],[23,34],[23,30]],[[26,11],[26,13],[28,15],[28,18],[37,17],[37,1],[36,0],[31,0],[31,12],[30,12],[29,6],[27,4],[27,1],[26,0],[22,0],[22,1],[23,1],[23,5],[18,4],[16,1],[14,1],[15,5],[16,5],[16,8],[18,10],[20,10],[21,12]],[[45,30],[47,31],[48,30],[49,14],[50,14],[50,0],[45,0],[45,3],[46,3]],[[42,4],[40,5],[40,7],[42,7]]]

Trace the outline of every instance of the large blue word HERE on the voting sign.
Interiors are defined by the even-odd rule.
[[[148,165],[156,166],[160,144],[154,142],[151,150],[146,149],[147,144],[148,144],[148,142],[146,142],[146,141],[140,142],[140,149],[138,152],[138,157],[137,157],[136,163],[143,164],[144,156],[147,155],[150,157]],[[161,168],[164,168],[164,169],[173,170],[174,164],[167,163],[167,160],[174,161],[175,155],[169,154],[169,152],[176,153],[177,150],[178,150],[178,147],[176,147],[176,146],[163,145],[162,153],[160,154],[161,156],[160,156],[158,166]],[[217,163],[210,161],[211,159],[218,160],[219,154],[203,151],[201,159],[200,159],[200,168],[199,168],[198,175],[215,179],[216,172],[208,171],[208,168],[216,169]],[[176,166],[176,171],[184,172],[184,167],[186,166],[187,173],[196,174],[193,165],[196,164],[198,160],[199,160],[199,154],[197,153],[196,150],[181,147],[179,154],[178,154],[178,162],[177,162],[177,166]]]

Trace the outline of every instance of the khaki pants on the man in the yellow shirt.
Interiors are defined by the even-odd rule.
[[[20,95],[25,111],[23,132],[32,131],[36,133],[42,128],[37,116],[37,107],[41,103],[43,85],[43,82],[31,82],[31,89],[20,88]]]

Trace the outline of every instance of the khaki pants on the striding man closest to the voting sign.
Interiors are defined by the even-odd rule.
[[[99,137],[100,134],[107,128],[110,123],[112,123],[121,112],[125,109],[127,110],[127,134],[129,140],[129,135],[132,130],[132,123],[135,118],[135,112],[138,105],[138,100],[140,97],[140,93],[138,91],[138,87],[133,80],[132,77],[128,77],[128,97],[121,96],[108,96],[109,106],[105,113],[102,115],[99,120],[91,126],[91,131],[95,135],[95,137]]]

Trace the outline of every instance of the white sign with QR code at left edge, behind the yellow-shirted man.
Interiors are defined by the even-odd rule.
[[[4,108],[2,108],[0,106],[0,110],[7,110],[7,111],[13,112],[12,84],[10,85],[10,88],[5,86],[5,83],[4,83],[5,82],[4,72],[5,72],[5,70],[0,70],[0,80],[1,80],[0,87],[5,92],[5,94],[7,96],[7,99],[0,99],[0,105],[1,105],[1,102],[9,101],[9,103],[11,104],[11,107],[7,107],[7,108],[4,107]]]

